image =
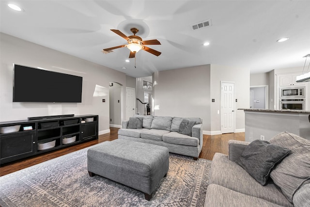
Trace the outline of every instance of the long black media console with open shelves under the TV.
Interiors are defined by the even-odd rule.
[[[98,115],[0,122],[1,129],[16,125],[19,131],[0,134],[0,164],[98,139]]]

